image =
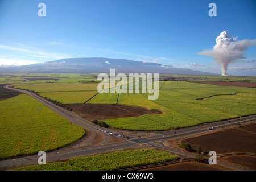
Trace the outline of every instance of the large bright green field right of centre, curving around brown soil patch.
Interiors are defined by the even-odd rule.
[[[213,96],[234,93],[238,94]],[[213,97],[196,100],[209,96]],[[256,90],[167,81],[159,90],[158,100],[147,100],[147,94],[122,94],[118,103],[159,109],[164,114],[106,120],[110,127],[138,131],[171,130],[255,114]]]

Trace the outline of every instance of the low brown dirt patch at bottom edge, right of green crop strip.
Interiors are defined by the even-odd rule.
[[[225,168],[198,162],[183,162],[143,169],[142,171],[224,171]]]

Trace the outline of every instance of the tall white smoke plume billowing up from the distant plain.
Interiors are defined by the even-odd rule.
[[[214,61],[221,64],[222,76],[226,76],[228,64],[236,61],[237,59],[245,58],[243,52],[251,45],[256,44],[254,40],[240,40],[229,36],[227,31],[223,31],[216,38],[216,45],[211,51],[199,52],[199,55],[212,56]]]

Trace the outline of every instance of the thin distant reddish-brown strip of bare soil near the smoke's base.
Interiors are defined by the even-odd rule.
[[[222,86],[242,86],[256,88],[256,82],[232,82],[232,81],[190,81],[196,84],[210,84],[210,85],[222,85]]]

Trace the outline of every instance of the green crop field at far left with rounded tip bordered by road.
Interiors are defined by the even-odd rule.
[[[25,94],[0,101],[0,125],[0,159],[55,150],[85,134]]]

